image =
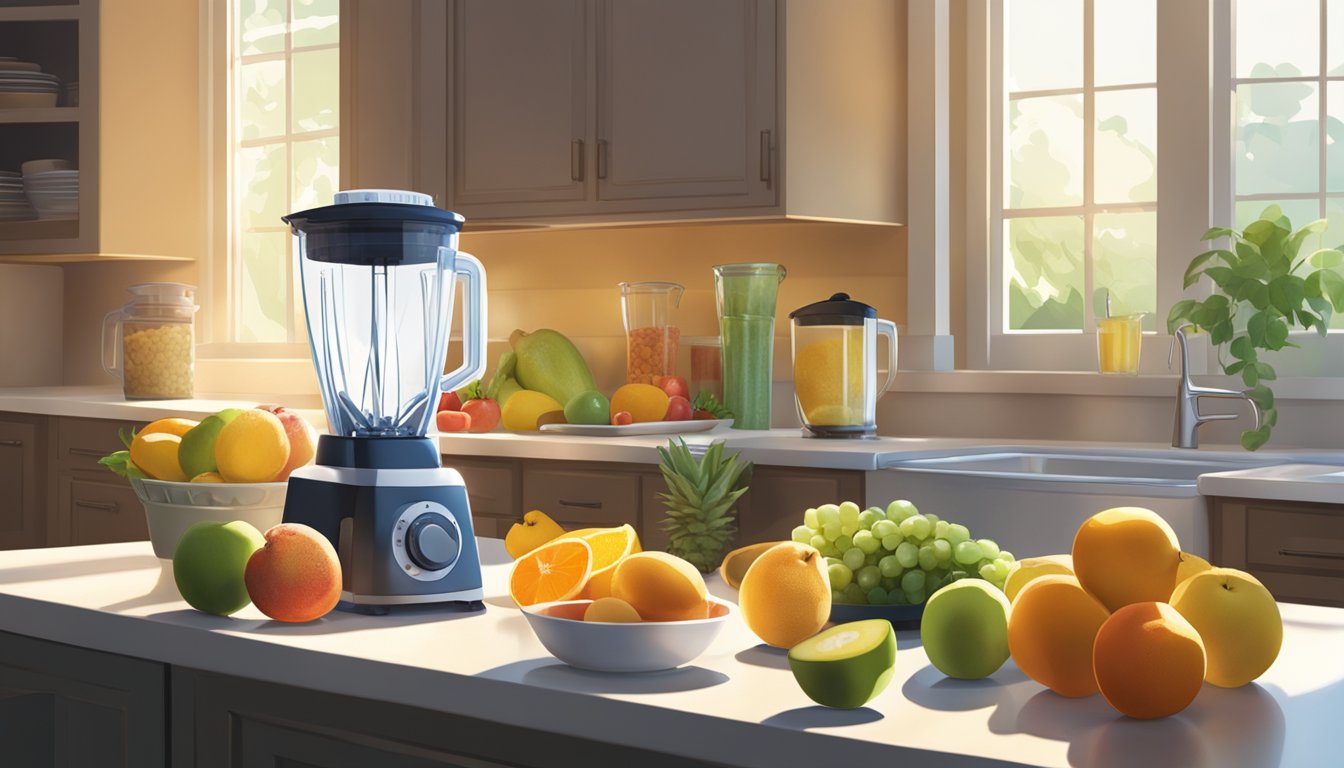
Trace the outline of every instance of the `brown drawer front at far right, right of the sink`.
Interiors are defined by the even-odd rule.
[[[1344,512],[1247,504],[1246,560],[1251,568],[1344,577]]]

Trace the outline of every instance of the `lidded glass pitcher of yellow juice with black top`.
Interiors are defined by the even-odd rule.
[[[863,301],[836,293],[789,313],[793,393],[814,437],[872,437],[878,398],[896,378],[896,325]],[[878,336],[887,338],[887,378],[878,386]]]

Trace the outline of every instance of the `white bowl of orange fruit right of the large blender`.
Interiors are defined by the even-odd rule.
[[[597,673],[653,673],[672,670],[710,647],[737,607],[710,597],[708,619],[638,621],[629,624],[583,621],[591,600],[540,603],[523,608],[536,639],[552,656],[571,667]]]

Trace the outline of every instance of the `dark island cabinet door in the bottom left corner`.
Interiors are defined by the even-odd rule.
[[[4,765],[167,761],[163,664],[0,632]]]

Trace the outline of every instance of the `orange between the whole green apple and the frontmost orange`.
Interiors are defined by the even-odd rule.
[[[1093,642],[1107,616],[1078,578],[1038,576],[1012,603],[1008,652],[1023,674],[1059,695],[1091,695],[1097,693]]]

